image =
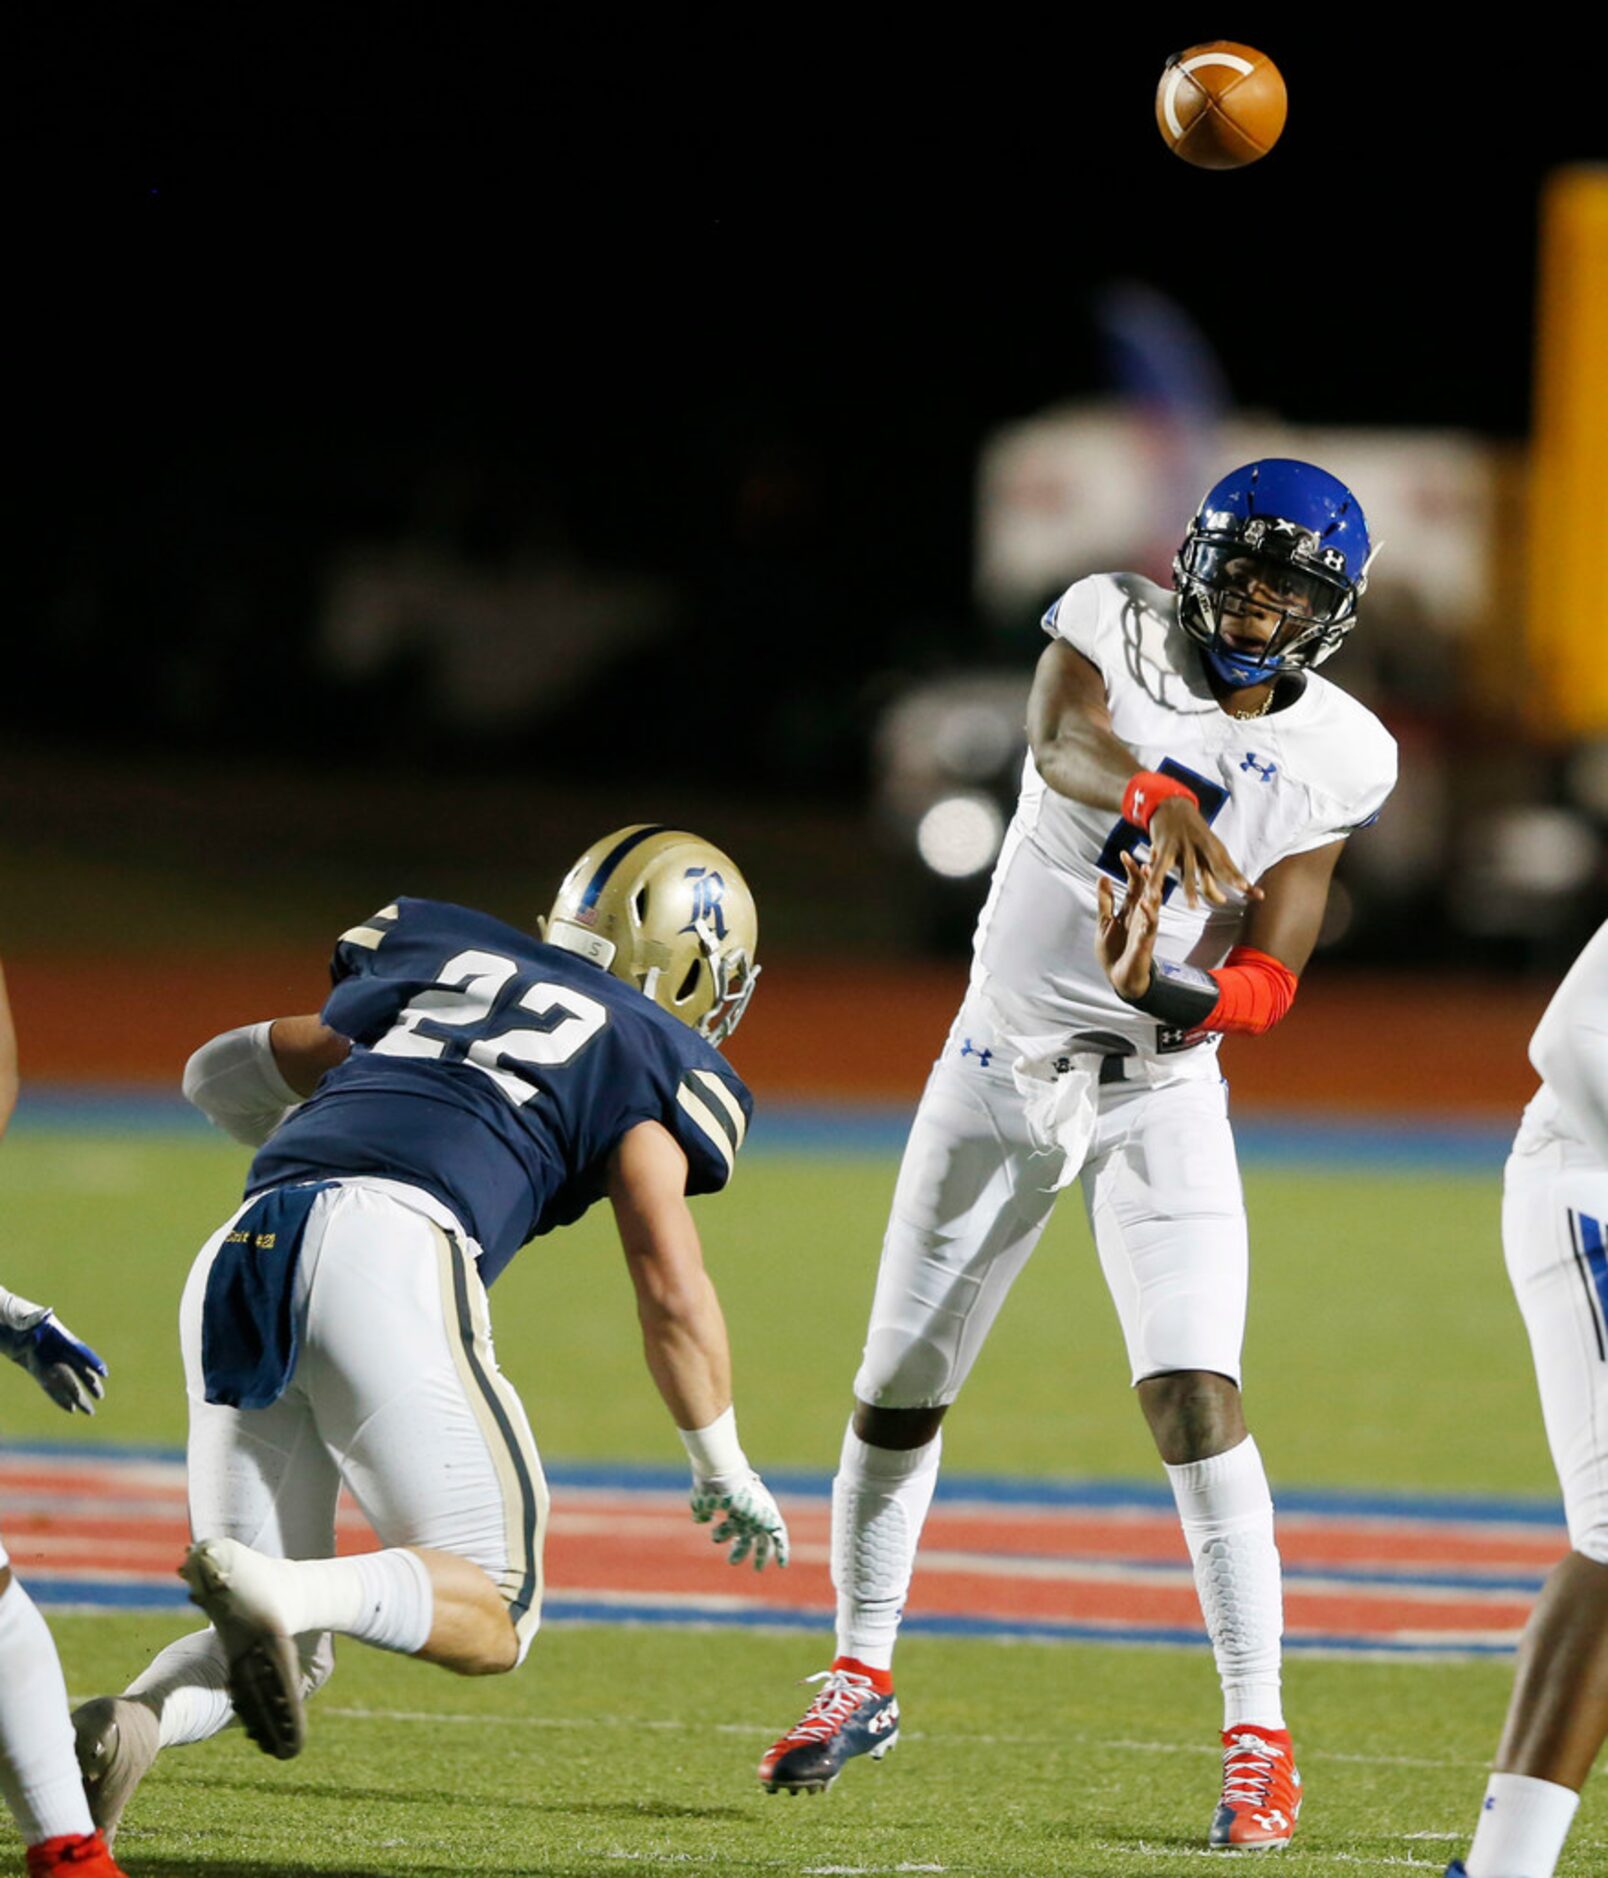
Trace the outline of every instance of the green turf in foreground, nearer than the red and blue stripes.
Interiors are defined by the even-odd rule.
[[[178,1628],[58,1619],[75,1696]],[[825,1799],[765,1795],[753,1762],[817,1658],[808,1639],[549,1630],[518,1675],[464,1683],[346,1645],[295,1765],[237,1733],[163,1754],[118,1852],[135,1878],[1200,1869],[1217,1780],[1204,1649],[911,1639],[898,1750]],[[1307,1805],[1281,1878],[1441,1872],[1478,1810],[1507,1670],[1296,1662],[1289,1685]],[[1599,1780],[1559,1874],[1604,1861]]]

